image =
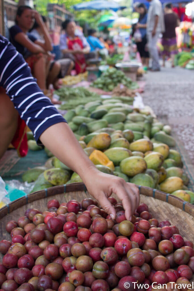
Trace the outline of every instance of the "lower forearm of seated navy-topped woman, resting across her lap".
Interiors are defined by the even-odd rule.
[[[45,50],[40,45],[31,41],[24,32],[19,32],[15,36],[15,40],[26,47],[33,54],[45,53]]]

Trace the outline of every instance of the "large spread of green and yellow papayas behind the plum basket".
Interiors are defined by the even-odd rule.
[[[123,101],[121,101],[123,100]],[[134,110],[130,97],[99,99],[79,105],[65,114],[74,135],[96,167],[127,182],[159,189],[194,203],[181,156],[170,135],[170,126],[153,118],[145,109]],[[138,112],[137,112],[138,111]],[[29,139],[33,138],[28,133]],[[31,136],[30,136],[31,135]],[[39,149],[29,140],[30,149]],[[23,180],[35,181],[33,191],[60,184],[82,182],[51,152],[44,167],[26,171]]]

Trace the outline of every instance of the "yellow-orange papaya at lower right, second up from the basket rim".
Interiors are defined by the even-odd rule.
[[[166,193],[172,193],[183,188],[183,180],[179,177],[169,177],[160,184],[160,189]]]

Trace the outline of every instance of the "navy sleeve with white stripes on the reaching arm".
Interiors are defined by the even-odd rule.
[[[66,122],[38,87],[22,55],[1,35],[0,86],[6,89],[7,95],[32,130],[36,141],[49,126]]]

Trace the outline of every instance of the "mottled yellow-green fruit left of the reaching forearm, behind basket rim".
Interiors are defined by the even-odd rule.
[[[44,171],[45,179],[54,186],[65,184],[70,179],[70,173],[60,168],[52,168]]]

